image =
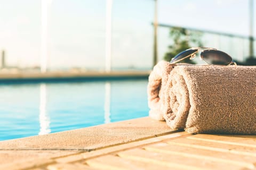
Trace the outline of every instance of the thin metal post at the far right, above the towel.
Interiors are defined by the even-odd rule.
[[[249,0],[249,36],[250,36],[250,45],[249,45],[249,57],[253,57],[253,0]]]

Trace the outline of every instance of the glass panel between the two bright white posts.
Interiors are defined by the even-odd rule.
[[[50,69],[104,69],[105,2],[52,1]]]

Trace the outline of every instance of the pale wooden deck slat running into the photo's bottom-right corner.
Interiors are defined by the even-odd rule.
[[[146,146],[145,149],[148,151],[154,151],[158,153],[185,156],[187,158],[214,160],[217,162],[241,166],[250,169],[255,168],[255,157],[251,156],[243,156],[230,153],[223,154],[223,152],[219,151],[174,146],[167,143],[157,143],[154,145],[149,145]]]

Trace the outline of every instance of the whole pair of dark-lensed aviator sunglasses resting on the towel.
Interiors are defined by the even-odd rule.
[[[190,57],[193,60],[196,57],[196,53],[201,51],[201,59],[207,64],[211,65],[237,65],[236,62],[227,53],[221,52],[215,48],[205,48],[205,47],[193,47],[189,48],[172,58],[170,64],[178,63],[185,58]]]

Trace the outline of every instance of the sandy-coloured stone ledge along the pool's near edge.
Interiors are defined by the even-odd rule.
[[[149,117],[0,142],[0,164],[60,157],[106,148],[173,132]]]

